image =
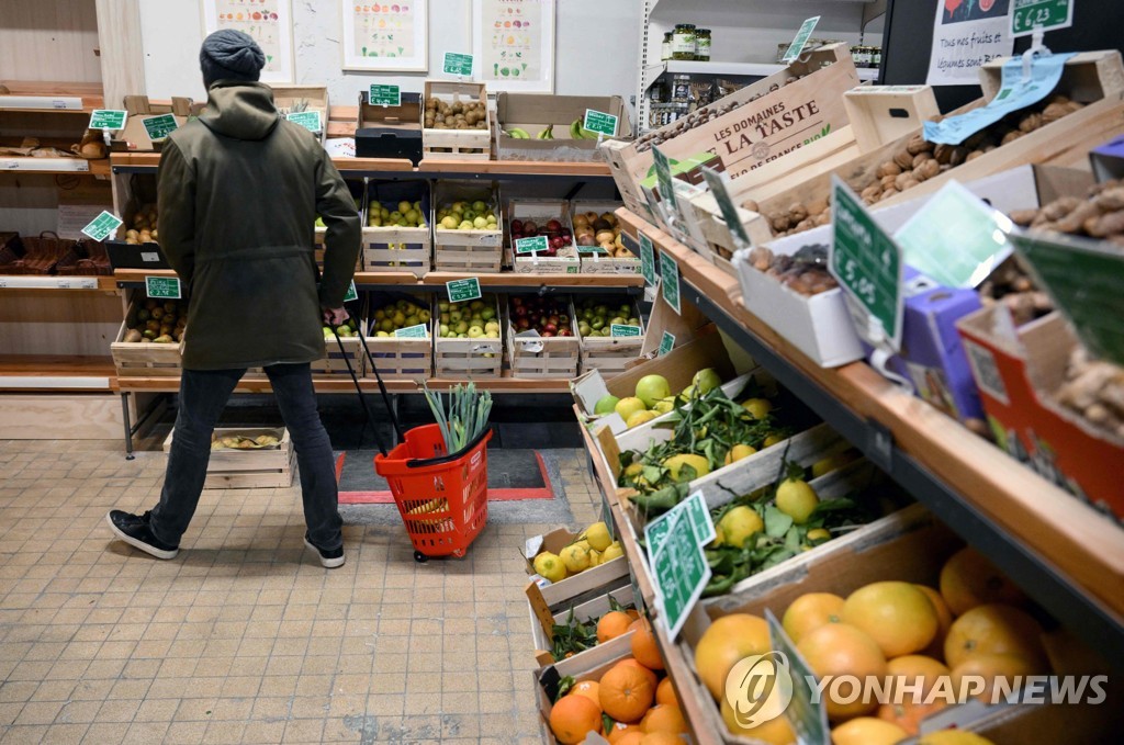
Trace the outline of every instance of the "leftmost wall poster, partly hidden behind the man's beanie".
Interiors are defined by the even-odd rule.
[[[203,0],[207,34],[233,28],[254,37],[265,53],[263,83],[289,83],[292,74],[290,0]]]

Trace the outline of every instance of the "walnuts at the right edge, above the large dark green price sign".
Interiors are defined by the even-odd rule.
[[[1124,183],[1105,181],[1089,189],[1085,199],[1061,197],[1039,209],[1010,213],[1015,225],[1109,240],[1124,246]]]

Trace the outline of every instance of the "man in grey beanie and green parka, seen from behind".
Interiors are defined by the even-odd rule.
[[[265,55],[253,38],[216,31],[199,60],[207,108],[169,137],[158,175],[160,244],[189,298],[172,452],[160,503],[107,518],[121,540],[173,558],[199,503],[211,431],[246,369],[262,366],[297,451],[305,544],[324,566],[341,566],[335,464],[309,363],[324,356],[321,322],[346,319],[359,211],[318,139],[256,82]],[[323,276],[317,215],[327,226]]]

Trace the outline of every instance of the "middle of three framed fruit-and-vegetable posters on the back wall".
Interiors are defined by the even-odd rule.
[[[360,4],[341,0],[344,70],[425,72],[429,35],[427,0]]]

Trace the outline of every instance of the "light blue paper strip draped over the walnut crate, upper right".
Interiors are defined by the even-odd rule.
[[[1037,103],[1058,85],[1066,61],[1072,56],[1071,52],[1049,57],[1035,56],[1028,78],[1023,78],[1022,57],[1008,60],[1003,65],[999,92],[987,106],[941,121],[926,121],[925,139],[942,145],[959,145],[1012,111]]]

